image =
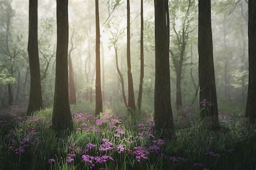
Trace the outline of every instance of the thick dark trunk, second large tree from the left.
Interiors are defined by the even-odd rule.
[[[56,78],[52,113],[52,126],[55,130],[73,128],[69,106],[68,46],[68,0],[57,0]]]

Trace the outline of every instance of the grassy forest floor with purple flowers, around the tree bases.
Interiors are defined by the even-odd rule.
[[[75,130],[66,135],[51,129],[50,108],[0,113],[0,169],[256,169],[256,128],[234,110],[220,113],[218,131],[185,110],[169,141],[154,132],[151,112],[134,123],[111,109],[99,119],[83,110],[72,106]]]

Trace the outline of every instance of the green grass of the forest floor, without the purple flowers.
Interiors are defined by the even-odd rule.
[[[82,105],[71,106],[76,113],[86,109]],[[89,107],[88,107],[89,108]],[[88,109],[90,112],[90,109]],[[91,109],[91,111],[93,111]],[[109,115],[116,117],[110,109],[106,109]],[[125,112],[125,110],[124,110]],[[90,169],[89,165],[82,160],[82,149],[86,144],[93,143],[97,146],[85,154],[92,156],[110,155],[114,161],[107,160],[105,164],[96,164],[94,169],[255,169],[256,168],[256,131],[255,127],[248,125],[243,119],[233,119],[229,115],[221,120],[221,131],[210,131],[197,121],[197,115],[190,117],[174,117],[176,131],[173,139],[165,141],[161,146],[161,153],[149,152],[147,159],[136,161],[135,156],[129,151],[117,153],[116,146],[122,144],[126,149],[133,151],[133,147],[142,146],[149,148],[151,138],[141,136],[137,124],[131,123],[131,119],[122,114],[122,124],[116,124],[118,129],[124,130],[125,134],[120,138],[114,137],[116,131],[108,124],[97,125],[93,118],[87,120],[75,120],[75,131],[68,135],[60,135],[51,130],[50,109],[42,110],[33,118],[17,118],[8,114],[1,114],[0,120],[8,123],[0,124],[0,169]],[[93,112],[91,112],[93,113]],[[143,113],[140,121],[145,127],[146,117],[152,113]],[[220,116],[221,117],[221,116]],[[144,119],[143,119],[144,118]],[[106,119],[107,122],[109,119]],[[85,122],[86,127],[95,125],[99,131],[80,131],[77,128]],[[36,134],[33,134],[36,130]],[[159,134],[151,131],[157,138]],[[22,144],[22,139],[28,138],[29,145],[24,153],[15,154],[14,148]],[[114,149],[99,152],[102,139],[109,139]],[[156,139],[154,139],[156,140]],[[35,144],[31,144],[35,141]],[[25,143],[26,144],[26,143]],[[75,149],[76,148],[76,149]],[[229,153],[228,150],[234,151]],[[72,152],[72,149],[76,151]],[[219,153],[219,157],[208,154],[209,151]],[[76,153],[75,160],[71,163],[66,161],[69,153]],[[56,162],[49,163],[48,159],[54,158]],[[170,158],[173,158],[170,161]],[[187,161],[181,161],[181,158]],[[177,161],[176,161],[177,160]],[[195,167],[193,164],[203,164],[204,167]]]

